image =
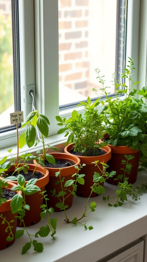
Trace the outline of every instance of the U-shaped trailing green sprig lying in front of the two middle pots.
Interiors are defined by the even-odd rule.
[[[95,161],[95,162],[92,162],[95,164],[95,166],[97,166],[100,170],[100,174],[97,173],[97,172],[94,172],[94,176],[93,176],[93,182],[94,184],[92,185],[91,187],[91,194],[92,192],[96,192],[97,194],[101,194],[101,193],[104,193],[105,192],[105,188],[100,185],[99,183],[102,183],[104,182],[107,178],[109,177],[112,177],[116,174],[115,171],[112,171],[112,172],[106,172],[106,168],[108,167],[108,165],[106,165],[105,163],[101,163],[102,166],[103,166],[103,170],[100,169],[99,165],[97,164],[98,161]],[[75,179],[70,179],[68,181],[65,182],[64,186],[63,186],[63,182],[64,182],[64,178],[61,179],[60,177],[60,171],[59,172],[56,172],[55,173],[55,176],[56,177],[59,177],[59,181],[57,181],[55,184],[58,184],[58,183],[61,183],[61,188],[62,188],[62,191],[60,191],[58,193],[58,195],[56,194],[56,190],[51,190],[51,192],[53,193],[54,196],[56,196],[60,202],[56,204],[56,207],[60,208],[60,210],[64,210],[64,213],[65,213],[65,222],[67,223],[72,223],[74,225],[77,225],[77,224],[80,224],[80,225],[83,225],[85,229],[93,229],[92,226],[87,226],[86,223],[81,223],[79,222],[83,217],[86,217],[87,213],[89,211],[92,211],[94,212],[95,211],[95,208],[97,206],[97,204],[95,203],[95,201],[92,201],[90,206],[89,206],[89,209],[87,210],[87,206],[88,206],[88,201],[89,201],[89,198],[91,197],[91,194],[89,195],[87,201],[86,201],[86,206],[85,206],[85,209],[84,209],[84,212],[82,214],[82,216],[77,219],[77,217],[74,217],[71,221],[69,220],[69,218],[67,217],[67,214],[66,214],[66,208],[68,208],[68,205],[65,205],[65,200],[66,198],[68,198],[71,194],[75,196],[76,198],[76,189],[77,189],[77,182],[80,183],[80,184],[84,184],[84,174],[79,174],[79,171],[81,170],[81,168],[85,166],[85,164],[83,164],[82,166],[80,165],[80,167],[78,166],[75,166],[75,168],[78,170],[77,173],[73,174],[72,177],[75,177]],[[72,185],[72,191],[71,190],[68,190],[68,186],[71,186]],[[69,195],[66,196],[66,190],[68,190],[70,192]],[[60,197],[63,197],[63,200],[61,200]]]

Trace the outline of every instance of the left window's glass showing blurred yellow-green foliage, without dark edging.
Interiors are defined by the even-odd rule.
[[[14,112],[11,1],[0,0],[0,127]]]

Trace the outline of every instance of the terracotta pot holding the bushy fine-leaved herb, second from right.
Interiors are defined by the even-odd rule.
[[[73,144],[69,144],[65,147],[64,152],[70,155],[73,155],[70,153],[70,150],[73,148]],[[100,162],[107,163],[107,161],[111,158],[111,148],[109,146],[104,146],[101,148],[103,151],[106,152],[106,154],[101,156],[78,156],[80,158],[81,165],[86,164],[84,166],[80,173],[85,174],[84,176],[84,185],[77,184],[77,196],[83,196],[83,197],[89,197],[91,193],[91,186],[93,185],[93,175],[94,172],[100,173],[100,170],[97,166],[92,164],[92,162],[99,160],[98,165],[101,170],[103,170],[102,164]],[[103,185],[104,183],[100,184]],[[97,196],[97,193],[93,192],[91,197]]]

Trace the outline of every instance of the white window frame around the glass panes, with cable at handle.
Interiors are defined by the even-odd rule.
[[[146,10],[146,0],[128,0],[126,57],[134,60],[136,79],[133,80],[142,81],[139,88],[147,85]],[[56,135],[58,126],[55,116],[68,117],[72,110],[59,112],[58,0],[19,0],[19,16],[21,110],[24,111],[24,118],[32,110],[32,104],[28,104],[27,86],[35,84],[36,109],[46,114],[50,121],[47,144],[64,144],[64,135]],[[19,134],[21,132],[19,130]],[[4,150],[12,148],[12,145],[16,145],[15,130],[0,134],[0,156],[4,156]],[[22,151],[26,149],[24,147]]]

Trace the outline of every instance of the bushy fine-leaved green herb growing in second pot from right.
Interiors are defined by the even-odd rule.
[[[71,117],[67,120],[56,116],[59,122],[57,125],[62,127],[57,134],[65,132],[65,137],[68,136],[66,145],[70,142],[74,143],[74,152],[78,151],[83,156],[96,156],[99,149],[107,145],[106,142],[99,143],[105,129],[104,114],[97,108],[100,103],[100,98],[98,98],[91,104],[91,99],[88,97],[86,102],[80,102],[78,105],[84,107],[83,116],[76,110],[73,110]]]

